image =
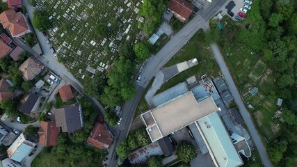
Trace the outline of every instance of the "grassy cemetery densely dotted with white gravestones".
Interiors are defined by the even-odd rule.
[[[137,42],[141,0],[51,0],[38,3],[49,13],[52,27],[48,34],[58,60],[83,83],[109,70],[116,52],[125,42]],[[96,34],[97,24],[106,25],[108,34]]]

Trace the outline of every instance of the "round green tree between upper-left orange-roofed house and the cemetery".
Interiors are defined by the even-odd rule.
[[[33,26],[39,31],[46,31],[51,28],[49,16],[41,10],[34,10],[33,13]]]

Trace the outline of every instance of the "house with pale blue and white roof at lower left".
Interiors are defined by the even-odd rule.
[[[8,157],[14,161],[22,161],[35,148],[36,144],[29,140],[23,133],[13,142],[7,150]]]

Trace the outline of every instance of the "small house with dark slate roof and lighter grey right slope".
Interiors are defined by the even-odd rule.
[[[33,93],[26,94],[20,100],[19,111],[24,114],[30,115],[36,113],[39,109],[41,96]]]

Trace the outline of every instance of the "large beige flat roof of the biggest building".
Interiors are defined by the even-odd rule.
[[[212,97],[197,102],[193,93],[188,92],[141,114],[141,118],[154,142],[216,111]]]

